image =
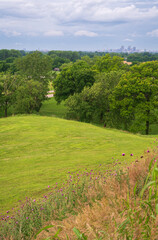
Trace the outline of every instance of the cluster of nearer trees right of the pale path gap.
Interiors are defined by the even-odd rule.
[[[123,58],[83,57],[53,81],[67,118],[149,134],[158,122],[158,61],[128,66]]]

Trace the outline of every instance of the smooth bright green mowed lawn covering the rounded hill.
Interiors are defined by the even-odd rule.
[[[42,196],[48,185],[62,183],[69,171],[95,169],[112,163],[112,158],[140,159],[155,139],[156,135],[134,135],[56,117],[2,118],[0,212],[26,197]]]

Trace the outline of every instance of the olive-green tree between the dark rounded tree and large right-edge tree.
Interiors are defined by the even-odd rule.
[[[100,73],[92,87],[85,87],[81,93],[70,96],[65,104],[67,117],[84,122],[107,123],[109,95],[118,84],[122,71]]]

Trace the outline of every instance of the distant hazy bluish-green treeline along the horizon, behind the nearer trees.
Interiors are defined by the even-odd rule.
[[[36,52],[36,51],[35,51]],[[12,73],[16,72],[16,66],[14,61],[17,58],[22,58],[28,54],[32,54],[34,51],[26,52],[24,50],[15,50],[15,49],[1,49],[0,50],[0,72],[6,72],[10,70]],[[106,55],[105,52],[86,52],[86,51],[58,51],[52,50],[47,53],[41,52],[42,55],[48,55],[52,59],[52,70],[55,68],[61,68],[65,63],[76,62],[79,59],[82,59],[85,56],[90,58],[101,57]],[[118,56],[124,58],[128,62],[132,62],[133,65],[140,62],[155,61],[158,60],[158,53],[110,53],[110,56]]]

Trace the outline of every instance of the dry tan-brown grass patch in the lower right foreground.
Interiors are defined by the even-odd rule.
[[[156,157],[155,157],[156,156]],[[69,216],[63,221],[52,221],[51,224],[56,227],[51,228],[48,232],[41,232],[38,236],[38,240],[45,239],[46,237],[53,236],[59,227],[62,231],[59,234],[61,240],[77,239],[73,232],[73,228],[76,227],[81,233],[84,233],[88,240],[94,239],[127,239],[119,235],[117,231],[118,226],[123,223],[127,218],[127,215],[131,213],[133,218],[132,226],[127,225],[127,231],[133,231],[133,239],[147,239],[142,238],[141,232],[143,231],[144,224],[147,224],[151,229],[150,240],[158,239],[158,215],[156,219],[150,218],[148,222],[143,219],[143,216],[148,214],[148,209],[140,207],[140,190],[142,189],[146,176],[148,174],[149,163],[151,159],[155,157],[158,159],[156,152],[149,153],[145,158],[140,161],[134,162],[129,169],[123,169],[121,174],[117,174],[115,178],[109,177],[106,179],[106,184],[100,181],[96,188],[87,192],[87,205],[78,209],[77,216]],[[137,183],[137,190],[134,194],[134,187]],[[89,202],[96,196],[96,192],[99,192],[99,188],[102,191],[102,199],[95,201],[91,206]],[[148,198],[148,192],[145,194],[145,198]],[[145,200],[145,199],[144,199]],[[154,200],[151,204],[155,204]],[[121,214],[122,213],[122,214]],[[132,215],[133,214],[133,215]]]

